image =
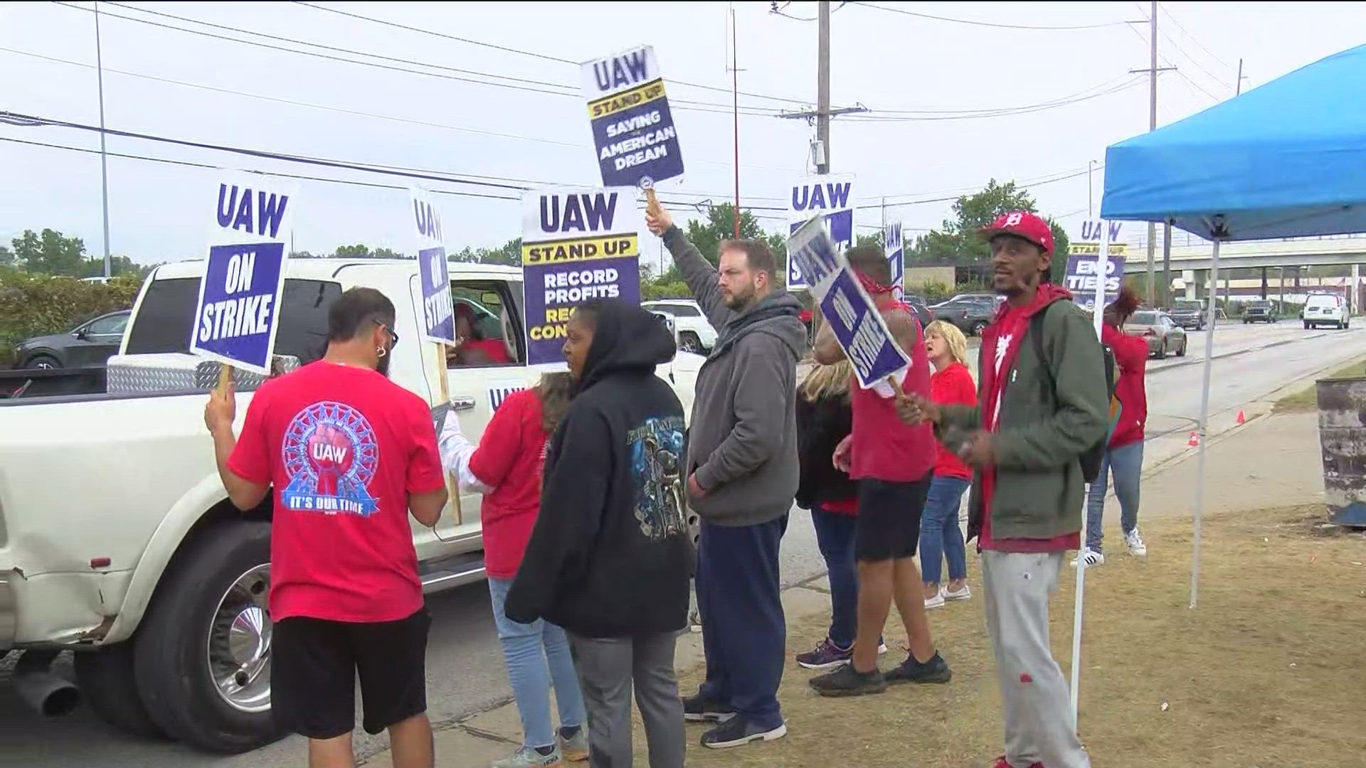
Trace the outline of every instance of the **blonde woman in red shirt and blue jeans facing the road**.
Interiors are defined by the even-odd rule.
[[[977,384],[967,369],[967,339],[956,325],[936,320],[925,329],[925,350],[934,366],[930,400],[977,404]],[[959,523],[963,492],[973,482],[973,470],[943,444],[934,461],[934,480],[921,515],[921,579],[925,607],[940,608],[945,600],[967,600],[967,549]],[[948,560],[948,585],[940,585]]]

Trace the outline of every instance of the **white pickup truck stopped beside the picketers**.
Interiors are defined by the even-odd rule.
[[[525,361],[522,273],[451,265],[451,290],[484,338]],[[217,364],[186,353],[204,262],[169,264],[143,284],[102,394],[0,399],[0,655],[23,650],[15,685],[40,712],[85,700],[146,738],[245,752],[281,734],[270,722],[270,502],[227,499],[204,426]],[[391,377],[440,403],[440,348],[422,343],[414,261],[294,260],[280,303],[279,359],[310,362],[326,344],[332,301],[355,286],[398,306]],[[660,366],[691,411],[702,358]],[[520,362],[448,369],[451,404],[477,439],[510,392],[534,381]],[[260,377],[238,380],[238,418]],[[478,495],[436,530],[413,522],[426,592],[484,578]],[[48,666],[74,650],[76,685]]]

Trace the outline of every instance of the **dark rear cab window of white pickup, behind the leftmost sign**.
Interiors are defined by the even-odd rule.
[[[302,364],[321,358],[328,343],[328,307],[340,297],[337,283],[285,279],[275,354],[295,355]],[[198,277],[153,280],[133,318],[127,354],[189,353],[198,301]]]

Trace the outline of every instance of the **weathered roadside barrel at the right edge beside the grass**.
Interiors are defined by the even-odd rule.
[[[1366,376],[1314,384],[1329,521],[1366,526]]]

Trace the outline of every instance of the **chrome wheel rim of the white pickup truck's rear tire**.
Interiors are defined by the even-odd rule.
[[[209,629],[209,671],[219,696],[242,712],[270,708],[270,566],[239,575],[219,600]]]

